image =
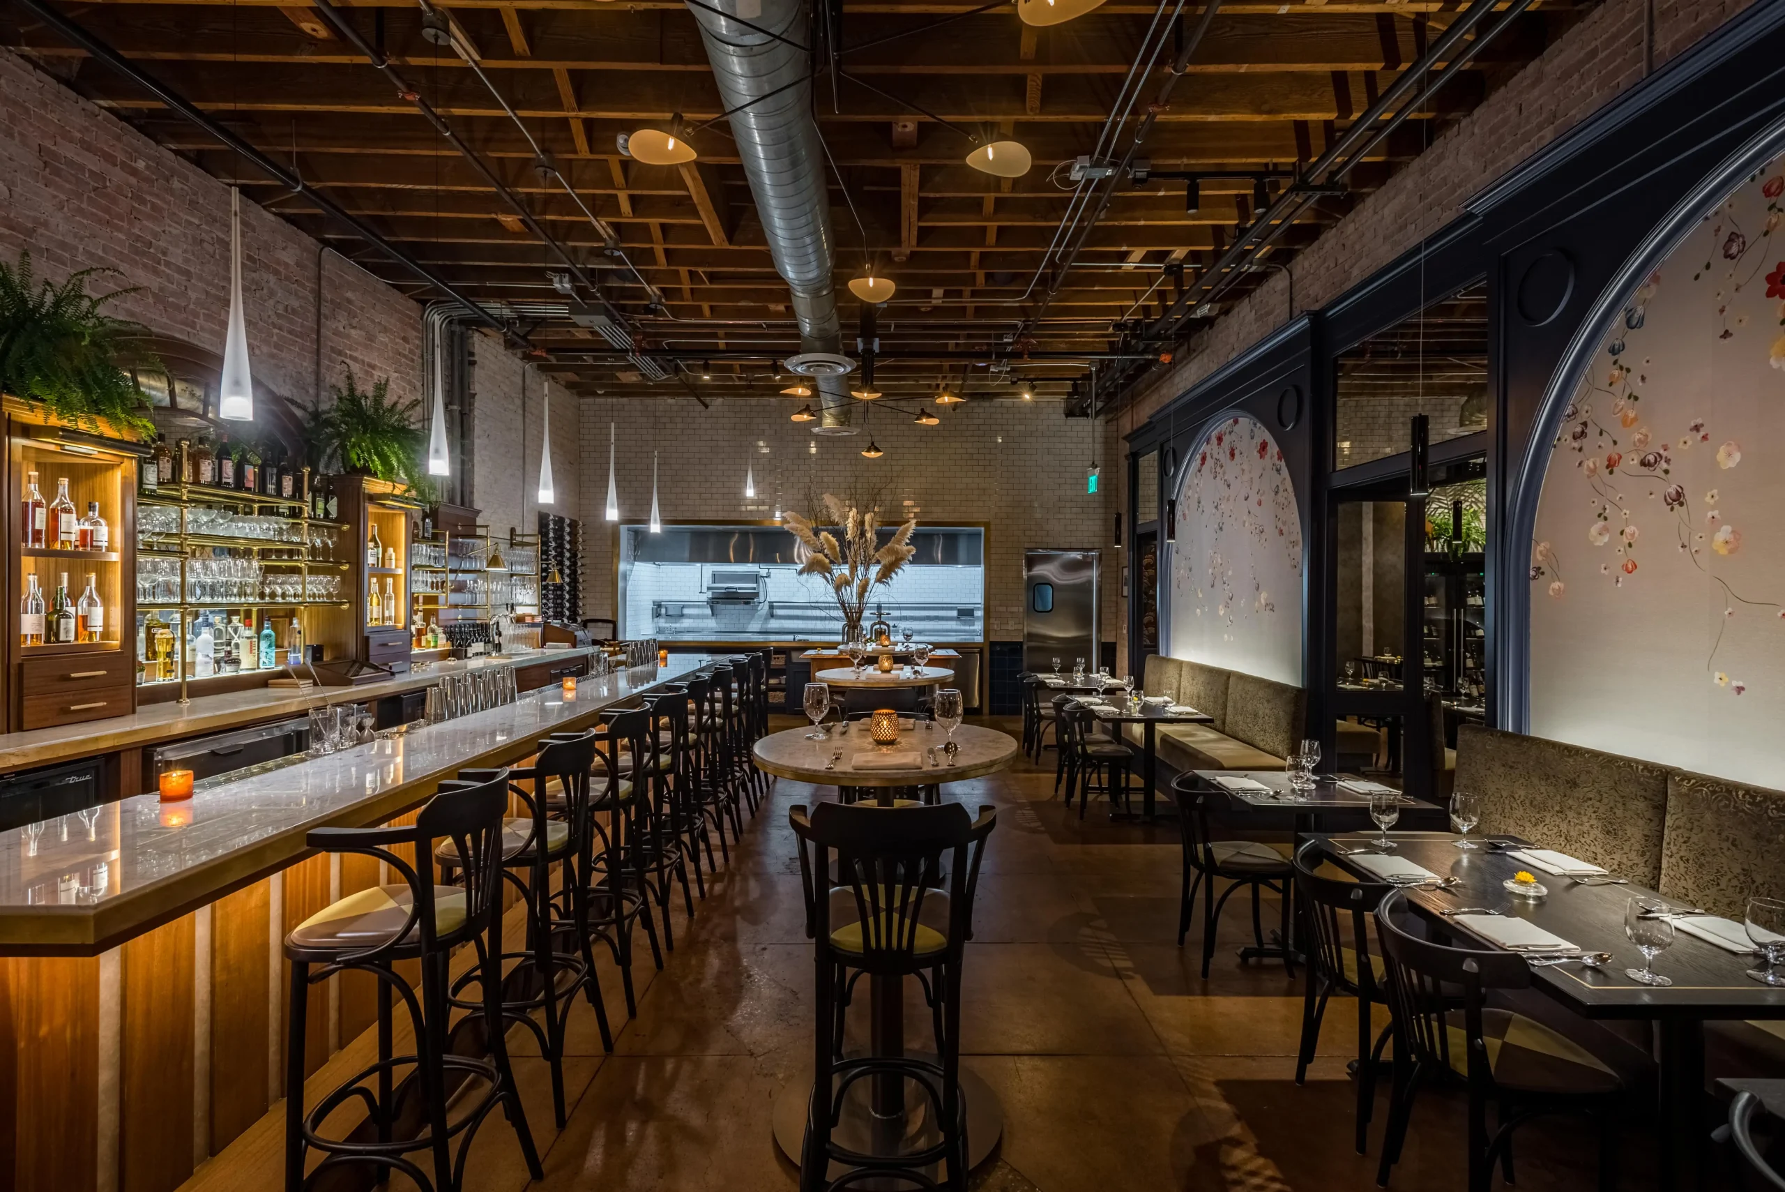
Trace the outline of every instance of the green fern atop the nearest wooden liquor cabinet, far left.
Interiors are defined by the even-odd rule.
[[[37,284],[29,252],[16,266],[0,261],[0,389],[73,426],[95,430],[104,419],[148,437],[155,432],[148,398],[118,368],[118,357],[148,328],[105,314],[107,303],[136,291],[89,294],[86,280],[95,273],[116,269],[79,269],[55,286]]]

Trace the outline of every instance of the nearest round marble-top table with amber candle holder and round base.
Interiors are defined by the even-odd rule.
[[[900,732],[898,744],[885,749],[875,746],[868,735],[868,721],[855,721],[848,732],[832,730],[825,741],[809,741],[810,728],[789,728],[769,733],[757,741],[755,762],[759,769],[819,785],[837,787],[876,787],[882,807],[889,815],[898,815],[896,787],[932,787],[944,782],[978,778],[1007,767],[1017,753],[1017,741],[1010,733],[975,724],[955,728],[953,766],[942,751],[948,733],[934,728],[932,721],[914,721],[912,728]],[[935,749],[935,764],[930,762],[930,749]],[[909,755],[912,766],[898,769],[860,769],[864,758]],[[903,978],[882,973],[869,974],[869,1053],[880,1056],[907,1055],[905,1051],[905,989]],[[934,1056],[932,1056],[934,1058]],[[855,1081],[843,1099],[832,1138],[857,1151],[866,1153],[910,1153],[934,1146],[939,1138],[935,1122],[930,1121],[930,1103],[926,1096],[907,1096],[909,1081]],[[960,1067],[960,1087],[967,1106],[967,1167],[976,1167],[1003,1135],[1003,1106],[976,1072],[967,1065]],[[807,1106],[810,1103],[810,1076],[794,1080],[775,1096],[775,1144],[794,1163],[800,1162],[801,1142],[805,1140]],[[937,1167],[926,1169],[935,1180],[942,1178]],[[828,1176],[837,1178],[843,1167],[834,1163]],[[864,1183],[862,1187],[878,1187]]]

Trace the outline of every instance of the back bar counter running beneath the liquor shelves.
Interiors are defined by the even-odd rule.
[[[303,716],[309,708],[328,703],[362,703],[427,687],[441,675],[462,671],[468,666],[550,666],[568,658],[596,653],[589,646],[536,650],[512,657],[491,657],[473,662],[434,662],[427,671],[412,671],[378,683],[357,687],[255,687],[220,696],[198,696],[189,703],[150,703],[129,716],[114,716],[84,724],[34,728],[23,733],[0,733],[0,774],[66,762],[112,749],[154,746],[198,733],[246,728],[262,721]],[[300,675],[303,669],[300,667]]]

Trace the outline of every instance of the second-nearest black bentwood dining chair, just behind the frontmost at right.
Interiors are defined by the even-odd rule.
[[[1376,1064],[1392,1026],[1371,1046],[1371,1006],[1387,1006],[1382,965],[1369,953],[1367,915],[1394,887],[1383,882],[1351,882],[1319,873],[1321,846],[1308,840],[1291,864],[1296,867],[1296,896],[1301,906],[1303,948],[1308,955],[1307,994],[1301,1003],[1301,1049],[1296,1055],[1296,1083],[1308,1076],[1314,1049],[1321,1042],[1321,1019],[1333,994],[1357,999],[1357,1153],[1369,1149],[1369,1119],[1376,1105]]]

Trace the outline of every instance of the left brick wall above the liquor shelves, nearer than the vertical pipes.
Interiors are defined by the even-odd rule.
[[[96,70],[96,68],[95,68]],[[91,266],[104,291],[139,287],[112,310],[157,334],[223,350],[228,187],[0,50],[0,253],[30,250],[41,277]],[[419,394],[419,307],[278,216],[243,202],[243,298],[255,387],[307,401],[343,360],[362,384]],[[321,253],[321,257],[320,257]]]

